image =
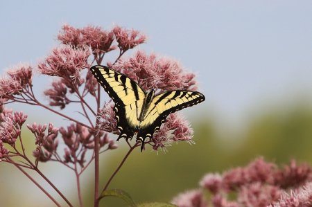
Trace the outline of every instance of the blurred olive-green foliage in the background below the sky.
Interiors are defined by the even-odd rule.
[[[196,145],[189,145],[186,142],[173,143],[171,147],[167,147],[166,154],[159,151],[158,155],[157,152],[150,152],[150,146],[147,146],[142,153],[137,148],[125,161],[108,189],[121,188],[136,202],[171,201],[180,192],[198,188],[198,182],[204,174],[222,173],[239,165],[247,165],[257,156],[264,156],[266,161],[275,161],[277,164],[286,164],[291,158],[312,163],[311,102],[297,103],[292,107],[273,106],[250,117],[248,125],[241,131],[232,130],[228,125],[216,127],[211,116],[201,113],[200,117],[202,120],[191,120],[195,132],[193,140],[196,141]],[[33,145],[33,138],[31,143]],[[125,141],[121,140],[118,144],[119,148],[116,150],[101,155],[101,189],[128,152]],[[26,145],[26,147],[29,152],[32,151],[29,147],[33,146]],[[49,168],[51,163],[40,166]],[[94,197],[94,165],[90,165],[89,168],[82,178],[81,189],[85,206],[92,206]],[[8,164],[0,163],[1,186],[12,174],[6,170]],[[10,170],[21,174],[17,169],[10,168]],[[24,180],[28,185],[33,185],[26,177],[20,177],[19,182]],[[12,181],[12,179],[8,180]],[[74,206],[78,206],[78,202],[75,202],[78,201],[75,183],[69,185],[72,188],[70,194],[73,195],[70,201]],[[13,204],[12,202],[17,204],[15,199],[10,202],[7,196],[16,196],[8,192],[15,192],[18,185],[6,186],[6,190],[0,190],[1,195],[6,195],[0,197],[0,206]],[[28,197],[31,193],[26,190],[26,195],[23,196]],[[69,195],[68,193],[65,191],[65,195]],[[45,195],[41,193],[40,197]],[[38,206],[42,204],[39,203]],[[116,197],[105,197],[100,206],[127,206],[127,204]]]

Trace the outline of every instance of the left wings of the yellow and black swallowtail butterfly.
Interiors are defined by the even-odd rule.
[[[118,140],[132,138],[139,125],[138,111],[141,111],[146,92],[127,75],[107,66],[92,66],[90,71],[115,103],[114,118],[121,132]]]

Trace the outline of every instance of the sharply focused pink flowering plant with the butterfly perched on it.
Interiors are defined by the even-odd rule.
[[[57,39],[60,44],[52,48],[51,52],[37,65],[13,66],[6,72],[6,75],[0,78],[0,161],[15,165],[57,206],[60,206],[58,201],[44,190],[25,169],[34,170],[40,174],[69,206],[73,205],[44,176],[40,171],[39,163],[55,161],[73,170],[76,175],[79,203],[83,206],[80,175],[94,161],[94,206],[98,206],[99,201],[106,196],[120,197],[128,201],[130,206],[137,206],[123,190],[107,190],[107,188],[132,150],[141,145],[139,142],[127,141],[128,153],[105,183],[105,187],[100,188],[99,154],[117,148],[114,140],[109,137],[109,133],[119,134],[119,131],[116,130],[116,120],[114,120],[112,109],[114,103],[111,100],[107,102],[101,100],[101,93],[104,90],[90,73],[89,68],[94,64],[104,64],[106,53],[116,53],[116,60],[106,62],[107,66],[128,75],[143,89],[155,89],[157,93],[168,90],[196,90],[196,75],[184,71],[182,65],[176,60],[159,57],[154,53],[148,55],[144,51],[136,51],[132,56],[124,57],[125,52],[139,44],[146,43],[146,35],[138,30],[128,30],[120,26],[113,26],[111,30],[104,30],[98,26],[73,28],[64,24]],[[49,99],[49,104],[38,100],[37,94],[33,92],[34,74],[54,77],[49,88],[43,91],[44,96]],[[88,102],[86,97],[88,97]],[[90,100],[94,101],[96,107],[91,107]],[[12,109],[5,107],[12,102],[43,107],[58,114],[60,118],[65,118],[69,124],[67,127],[55,127],[53,123],[44,125],[27,123],[28,115],[23,111],[13,112]],[[78,103],[80,106],[79,112],[82,116],[79,120],[62,113],[62,109],[73,103]],[[33,150],[34,159],[26,156],[23,147],[25,140],[21,136],[22,125],[26,125],[26,129],[33,134],[33,141],[36,145]],[[151,149],[157,151],[165,150],[173,141],[192,143],[192,133],[193,129],[183,116],[171,114],[161,129],[155,132],[153,138],[146,142],[146,148],[150,145]],[[59,143],[64,143],[64,146],[60,147]],[[87,152],[92,154],[89,159],[86,158]],[[168,204],[168,206],[171,205]]]

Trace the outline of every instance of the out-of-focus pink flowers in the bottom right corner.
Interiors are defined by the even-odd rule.
[[[205,199],[207,204],[220,207],[308,206],[312,201],[311,170],[310,165],[296,165],[294,160],[279,169],[275,163],[266,163],[263,158],[255,159],[245,168],[234,168],[222,175],[206,174],[200,181],[201,190],[209,190],[212,197],[210,200],[205,196],[198,197],[198,203],[202,204],[202,199]],[[227,200],[229,192],[236,195],[236,200]],[[189,197],[191,195],[186,192],[175,197],[172,203],[180,207],[195,207],[189,203]]]

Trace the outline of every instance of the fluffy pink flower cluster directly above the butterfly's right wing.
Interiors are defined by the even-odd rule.
[[[160,89],[172,90],[196,90],[196,75],[182,69],[180,62],[159,55],[147,55],[143,51],[137,51],[132,57],[121,59],[113,69],[120,71],[139,83],[146,91]]]

